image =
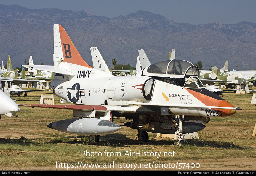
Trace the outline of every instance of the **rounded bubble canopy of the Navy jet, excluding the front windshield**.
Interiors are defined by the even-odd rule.
[[[152,75],[154,74],[154,75]],[[158,74],[158,75],[156,75]],[[148,76],[164,76],[170,78],[188,78],[189,76],[199,76],[199,69],[188,61],[167,60],[157,62],[148,66]]]

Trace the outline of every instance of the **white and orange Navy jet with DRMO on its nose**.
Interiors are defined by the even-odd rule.
[[[48,127],[90,135],[91,141],[119,130],[120,126],[111,122],[113,116],[132,118],[132,123],[125,125],[138,130],[139,140],[147,141],[147,132],[154,132],[176,133],[179,142],[184,142],[183,133],[204,129],[210,117],[229,116],[241,110],[207,90],[198,78],[198,67],[188,61],[158,62],[133,76],[114,76],[94,69],[84,62],[58,24],[54,25],[54,66],[23,66],[54,72],[54,94],[74,103],[27,106],[73,109],[73,116],[79,119],[53,122]]]

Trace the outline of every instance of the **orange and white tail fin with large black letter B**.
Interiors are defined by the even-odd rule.
[[[77,51],[65,29],[54,24],[54,65],[59,66],[61,62],[89,67]],[[67,65],[68,66],[68,65]]]

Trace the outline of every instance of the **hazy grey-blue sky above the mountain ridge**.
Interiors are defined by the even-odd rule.
[[[241,21],[256,23],[255,0],[0,0],[0,4],[18,4],[31,9],[85,10],[106,17],[125,16],[137,10],[145,10],[179,23],[194,25],[212,22],[236,24]]]

